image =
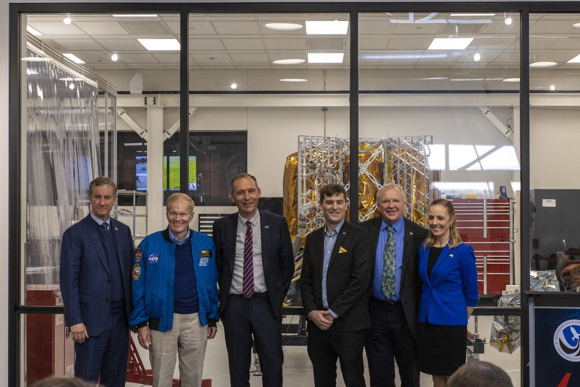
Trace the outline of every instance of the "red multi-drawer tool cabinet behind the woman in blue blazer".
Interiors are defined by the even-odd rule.
[[[501,294],[513,284],[512,199],[454,199],[456,225],[472,245],[480,294]]]

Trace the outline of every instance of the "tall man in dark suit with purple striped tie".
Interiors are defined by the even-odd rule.
[[[294,255],[286,218],[258,211],[261,196],[254,176],[234,176],[230,198],[238,212],[213,223],[232,387],[250,385],[252,336],[262,385],[282,387],[282,301],[294,273]]]

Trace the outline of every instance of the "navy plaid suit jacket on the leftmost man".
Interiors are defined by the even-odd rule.
[[[97,222],[87,215],[63,234],[60,248],[60,291],[63,296],[67,327],[84,323],[89,336],[103,331],[111,301],[111,276],[106,249],[99,237]],[[125,313],[131,314],[131,263],[135,256],[128,226],[111,218],[111,230],[117,244]]]

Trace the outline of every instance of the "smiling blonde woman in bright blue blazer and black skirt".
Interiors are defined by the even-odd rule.
[[[419,249],[423,281],[419,304],[419,369],[433,376],[434,387],[465,363],[467,319],[477,304],[477,269],[473,248],[463,243],[450,201],[429,207],[429,235]]]

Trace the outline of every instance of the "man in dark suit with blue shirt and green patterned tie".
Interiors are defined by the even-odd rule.
[[[371,387],[395,387],[397,360],[401,387],[419,387],[416,325],[420,297],[420,245],[427,230],[403,217],[407,202],[400,186],[386,184],[376,193],[380,217],[360,224],[375,248],[369,314],[372,327],[365,349]]]

